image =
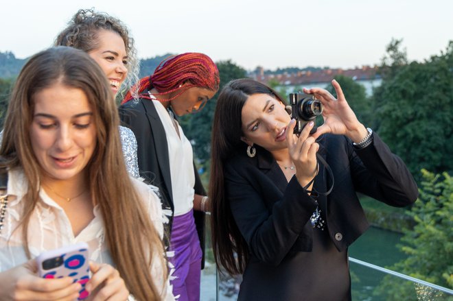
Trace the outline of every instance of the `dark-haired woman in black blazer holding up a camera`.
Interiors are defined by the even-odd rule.
[[[338,99],[297,136],[286,104],[254,80],[218,97],[211,144],[211,230],[218,267],[243,274],[239,300],[351,300],[347,248],[369,224],[356,191],[391,206],[417,199],[412,176]]]

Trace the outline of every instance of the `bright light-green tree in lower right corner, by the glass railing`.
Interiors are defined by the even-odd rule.
[[[408,213],[413,229],[404,230],[399,248],[408,258],[391,269],[453,289],[453,178],[422,170],[419,200]],[[386,300],[453,300],[428,287],[386,276],[376,291]]]

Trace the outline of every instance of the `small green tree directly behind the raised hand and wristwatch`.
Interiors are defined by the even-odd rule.
[[[349,76],[336,75],[334,78],[340,84],[347,102],[356,113],[358,120],[364,125],[369,125],[371,123],[371,103],[364,86],[358,84]],[[331,84],[327,85],[327,91],[337,97],[336,91]]]

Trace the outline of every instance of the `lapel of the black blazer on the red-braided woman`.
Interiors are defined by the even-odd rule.
[[[154,139],[154,151],[159,162],[159,168],[165,182],[166,189],[173,203],[172,193],[172,176],[170,175],[170,158],[168,156],[167,136],[165,136],[165,129],[159,114],[157,113],[152,100],[142,99],[141,103],[146,111],[146,116],[150,122],[150,130],[152,132],[152,139]]]

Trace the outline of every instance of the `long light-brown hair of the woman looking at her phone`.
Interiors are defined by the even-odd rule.
[[[21,218],[23,248],[30,258],[27,230],[38,202],[36,187],[40,186],[40,166],[30,142],[34,95],[55,84],[79,88],[93,109],[97,141],[86,169],[91,195],[102,212],[113,262],[135,298],[159,300],[163,288],[154,285],[150,270],[152,259],[158,258],[165,280],[163,245],[126,171],[113,95],[96,62],[71,47],[47,49],[30,58],[17,78],[5,118],[0,149],[5,162],[1,167],[21,167],[28,182]]]

